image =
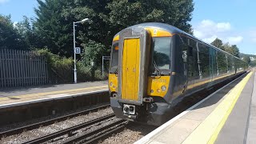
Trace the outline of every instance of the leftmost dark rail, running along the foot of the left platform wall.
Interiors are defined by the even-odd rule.
[[[41,127],[41,126],[47,126],[47,125],[53,124],[55,122],[61,122],[61,121],[64,121],[66,119],[74,118],[74,117],[82,115],[82,114],[89,114],[90,112],[105,109],[106,107],[109,107],[109,106],[110,106],[110,104],[106,104],[106,105],[98,106],[98,107],[95,107],[95,108],[92,108],[92,109],[89,109],[89,110],[82,110],[82,111],[79,111],[79,112],[74,113],[74,114],[68,114],[68,115],[65,115],[65,116],[62,116],[62,117],[53,118],[53,119],[46,120],[46,121],[43,121],[43,122],[37,122],[37,123],[31,124],[31,125],[22,126],[22,127],[13,129],[13,130],[3,131],[3,132],[0,133],[0,138],[4,138],[4,137],[14,135],[14,134],[19,134],[19,133],[22,133],[23,131],[27,131],[27,130],[33,130],[33,129],[36,129],[36,128]]]

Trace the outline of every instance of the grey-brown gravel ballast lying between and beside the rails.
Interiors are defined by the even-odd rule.
[[[96,107],[96,106],[94,106]],[[81,110],[86,110],[88,108],[93,108],[92,106],[90,107],[86,107],[80,110],[74,110],[74,111],[70,111],[69,113],[66,114],[72,114],[74,112],[78,112]],[[25,131],[22,132],[21,134],[15,134],[6,138],[2,138],[0,143],[2,144],[9,144],[9,143],[14,143],[14,144],[18,144],[18,143],[22,143],[22,142],[27,142],[30,141],[34,138],[39,138],[42,137],[46,134],[52,134],[54,132],[57,132],[59,130],[64,130],[66,128],[69,128],[71,126],[76,126],[78,124],[81,124],[83,122],[88,122],[90,120],[93,120],[95,118],[100,118],[102,116],[108,115],[108,114],[112,114],[113,110],[111,110],[111,108],[106,108],[104,110],[98,110],[97,112],[92,112],[90,114],[85,114],[85,115],[81,115],[75,118],[70,118],[67,119],[65,121],[62,122],[56,122],[54,124],[51,124],[49,126],[42,126],[38,129],[34,129],[34,130],[29,130],[29,131]],[[62,114],[64,115],[64,114]],[[4,130],[10,130],[19,126],[26,126],[29,125],[31,123],[34,122],[42,122],[46,119],[49,118],[56,118],[59,117],[60,114],[56,114],[47,118],[38,118],[38,119],[34,119],[30,122],[19,122],[10,126],[4,126],[4,127],[0,127],[0,131],[4,131]],[[93,126],[88,126],[86,128],[80,129],[80,130],[76,130],[73,132],[73,137],[78,137],[82,134],[88,133],[92,130],[96,130],[99,127],[102,126],[107,126],[112,122],[118,121],[118,118],[110,118],[107,119],[103,122],[99,122],[97,124],[94,124]],[[126,144],[126,143],[133,143],[138,141],[138,139],[142,138],[143,136],[145,136],[146,134],[149,134],[152,130],[156,129],[157,126],[148,126],[148,125],[142,125],[136,122],[129,122],[129,124],[126,125],[126,128],[124,130],[122,130],[121,132],[118,132],[116,134],[112,134],[109,138],[106,138],[104,140],[99,141],[98,143],[103,143],[103,144],[112,144],[112,143],[122,143],[122,144]],[[68,140],[70,137],[68,137],[68,135],[63,135],[61,137],[58,138],[54,138],[53,140],[51,140],[50,142],[45,142],[45,143],[62,143],[65,142],[66,140]]]

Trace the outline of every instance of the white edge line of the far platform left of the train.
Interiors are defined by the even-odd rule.
[[[89,91],[89,92],[78,93],[78,94],[69,94],[69,95],[65,94],[65,95],[60,96],[60,97],[54,97],[54,98],[40,98],[40,99],[30,100],[30,101],[26,101],[26,102],[8,103],[8,104],[0,105],[0,109],[2,109],[2,108],[7,108],[7,107],[13,107],[13,106],[22,106],[22,105],[26,105],[26,104],[30,104],[30,103],[46,102],[46,101],[52,101],[52,100],[56,100],[56,99],[78,97],[78,96],[82,96],[82,95],[84,95],[84,94],[93,94],[93,93],[103,92],[103,91],[106,91],[106,90],[108,90],[108,89],[105,89],[105,90],[95,90],[95,91]],[[50,95],[46,95],[46,96],[50,96]]]

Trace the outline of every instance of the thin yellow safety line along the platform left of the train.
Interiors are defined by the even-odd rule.
[[[10,98],[29,98],[34,96],[44,96],[44,95],[51,95],[51,94],[64,94],[64,93],[71,93],[71,92],[77,92],[82,90],[93,90],[93,89],[99,89],[99,88],[107,88],[108,86],[94,86],[94,87],[86,87],[86,88],[79,88],[79,89],[70,89],[70,90],[58,90],[58,91],[50,91],[46,93],[36,93],[36,94],[25,94],[25,95],[16,95],[11,97],[4,97],[0,98],[1,101],[4,100],[10,100]]]

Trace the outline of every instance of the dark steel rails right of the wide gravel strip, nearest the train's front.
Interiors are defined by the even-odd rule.
[[[92,126],[98,122],[102,122],[109,118],[114,118],[114,114],[109,114],[109,115],[103,116],[101,118],[96,118],[92,121],[84,122],[80,125],[72,126],[70,128],[60,130],[53,134],[48,134],[48,135],[42,136],[41,138],[33,139],[29,142],[24,142],[23,144],[38,144],[38,143],[42,143],[42,142],[54,142],[53,141],[54,138],[58,138],[63,135],[66,135],[66,134],[68,134],[69,137],[72,137],[72,136],[74,136],[74,134],[76,134],[76,133],[74,133],[76,130],[86,128],[87,126]],[[74,142],[78,142],[81,140],[83,141],[83,143],[95,142],[98,139],[105,137],[107,134],[112,134],[114,131],[121,130],[122,128],[124,128],[125,122],[126,121],[124,121],[124,120],[118,120],[117,122],[113,122],[110,125],[102,126],[102,127],[98,128],[97,130],[90,131],[90,132],[82,134],[78,137],[70,138],[69,140],[67,140],[64,143],[74,143]]]

